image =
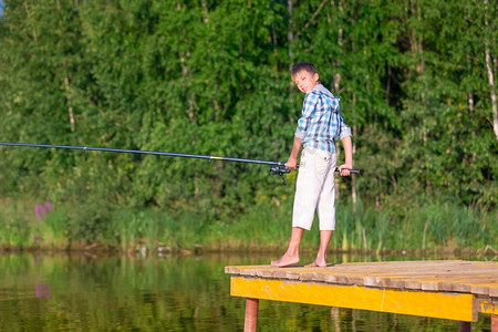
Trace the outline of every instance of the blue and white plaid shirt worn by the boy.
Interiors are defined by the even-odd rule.
[[[350,126],[342,120],[339,101],[322,84],[307,93],[294,134],[303,146],[335,153],[334,139],[352,136]]]

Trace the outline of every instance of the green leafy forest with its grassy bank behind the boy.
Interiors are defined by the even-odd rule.
[[[308,61],[362,169],[336,179],[333,249],[498,247],[496,1],[3,2],[2,142],[286,162]],[[295,176],[0,147],[0,246],[281,249]]]

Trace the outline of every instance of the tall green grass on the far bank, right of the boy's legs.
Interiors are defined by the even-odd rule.
[[[496,211],[484,212],[450,203],[416,204],[401,210],[364,209],[360,203],[356,209],[351,205],[338,208],[338,219],[332,242],[343,250],[478,249],[498,245],[498,231],[492,227]]]

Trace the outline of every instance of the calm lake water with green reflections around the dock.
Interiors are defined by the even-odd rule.
[[[274,258],[0,255],[0,331],[242,331],[245,299],[230,297],[224,268]],[[489,315],[473,324],[489,330]],[[260,301],[258,331],[458,331],[458,322]]]

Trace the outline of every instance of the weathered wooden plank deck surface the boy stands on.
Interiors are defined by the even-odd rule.
[[[356,262],[328,268],[247,266],[227,267],[226,272],[236,276],[393,289],[469,292],[491,297],[496,297],[498,292],[498,284],[494,284],[498,279],[498,262],[444,260]]]

